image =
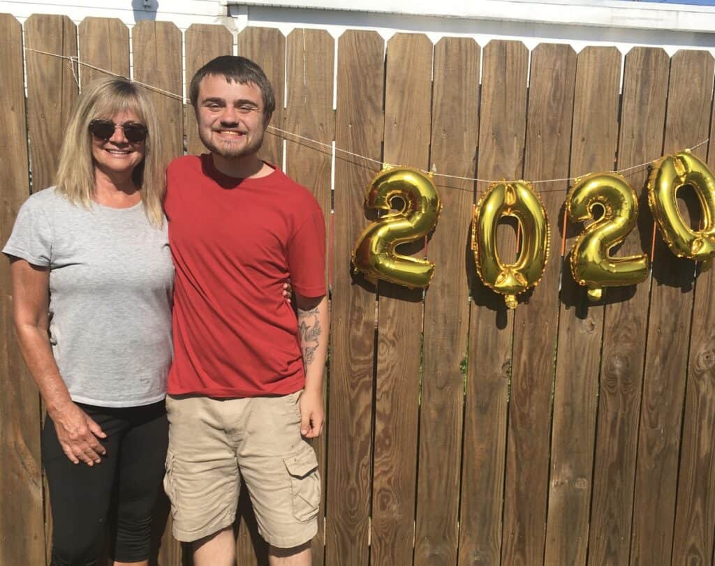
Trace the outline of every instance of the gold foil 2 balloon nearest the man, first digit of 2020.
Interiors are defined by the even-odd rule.
[[[352,252],[352,264],[373,282],[383,279],[410,289],[427,287],[435,264],[400,255],[395,247],[429,234],[440,215],[440,197],[428,174],[386,166],[370,183],[365,206],[390,211],[395,199],[402,200],[402,208],[363,230]]]

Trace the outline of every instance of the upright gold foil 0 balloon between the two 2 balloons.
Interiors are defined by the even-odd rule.
[[[505,264],[496,249],[496,232],[501,217],[515,217],[521,227],[519,257]],[[516,295],[541,280],[549,247],[546,210],[524,181],[492,184],[480,199],[472,224],[472,247],[479,277],[485,285],[504,295],[506,306],[516,308]]]

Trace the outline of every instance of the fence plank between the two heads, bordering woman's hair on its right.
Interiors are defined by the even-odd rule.
[[[182,92],[182,36],[174,24],[168,22],[140,21],[132,30],[134,53],[134,79],[164,91],[181,95]],[[182,100],[156,91],[148,91],[159,116],[162,131],[164,163],[183,154],[183,104]],[[181,545],[171,535],[171,518],[168,502],[160,497],[154,522],[167,525],[159,543],[159,564],[178,565]],[[168,520],[168,522],[167,522]]]

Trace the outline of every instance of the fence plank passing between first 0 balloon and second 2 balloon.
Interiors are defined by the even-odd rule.
[[[575,83],[576,53],[571,46],[541,44],[534,49],[526,121],[526,179],[568,177]],[[568,183],[536,184],[534,189],[551,228],[551,257],[528,303],[517,307],[514,314],[508,432],[508,461],[513,466],[508,467],[508,489],[516,490],[517,516],[524,525],[522,550],[513,557],[524,564],[537,563],[546,522],[551,387],[558,337],[559,224]]]

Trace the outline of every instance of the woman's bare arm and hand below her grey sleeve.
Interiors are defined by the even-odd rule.
[[[32,379],[54,421],[62,450],[74,464],[99,464],[106,450],[97,437],[107,435],[72,402],[52,355],[48,336],[49,268],[11,259],[15,332]]]

